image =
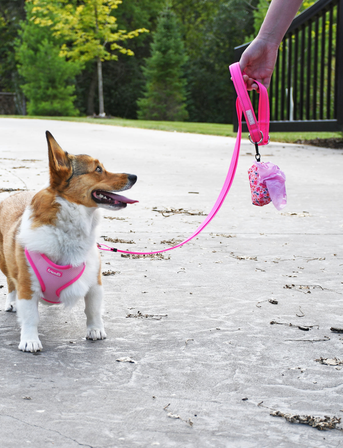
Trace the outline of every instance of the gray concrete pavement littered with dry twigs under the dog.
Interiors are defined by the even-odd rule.
[[[128,196],[139,203],[117,215],[104,211],[125,219],[104,218],[99,227],[100,242],[104,235],[135,241],[117,244],[122,249],[157,250],[190,235],[201,216],[152,209],[208,213],[234,147],[225,137],[1,118],[0,188],[45,183],[46,129],[70,153],[137,174]],[[104,341],[85,340],[82,302],[73,310],[39,306],[43,351],[20,352],[0,275],[2,447],[343,446],[341,431],[291,424],[257,406],[343,417],[343,366],[314,361],[343,359],[343,334],[330,331],[343,327],[343,151],[262,148],[262,160],[286,172],[282,212],[251,204],[253,151],[243,141],[230,193],[198,239],[165,259],[103,253],[104,271],[120,271],[103,277]],[[168,316],[126,318],[138,311]],[[313,339],[324,341],[303,341]],[[116,361],[126,356],[136,363]]]

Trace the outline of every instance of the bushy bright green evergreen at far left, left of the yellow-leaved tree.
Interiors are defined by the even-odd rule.
[[[74,78],[81,64],[60,56],[61,42],[53,36],[51,26],[41,27],[32,18],[27,4],[27,20],[22,22],[17,42],[18,72],[24,79],[22,90],[29,115],[78,115],[74,107]]]

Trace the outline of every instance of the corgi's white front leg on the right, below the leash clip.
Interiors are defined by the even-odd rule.
[[[102,299],[104,297],[104,289],[102,285],[96,284],[91,286],[85,295],[85,314],[87,316],[87,339],[104,339],[106,333],[104,330],[104,322],[101,318]]]

